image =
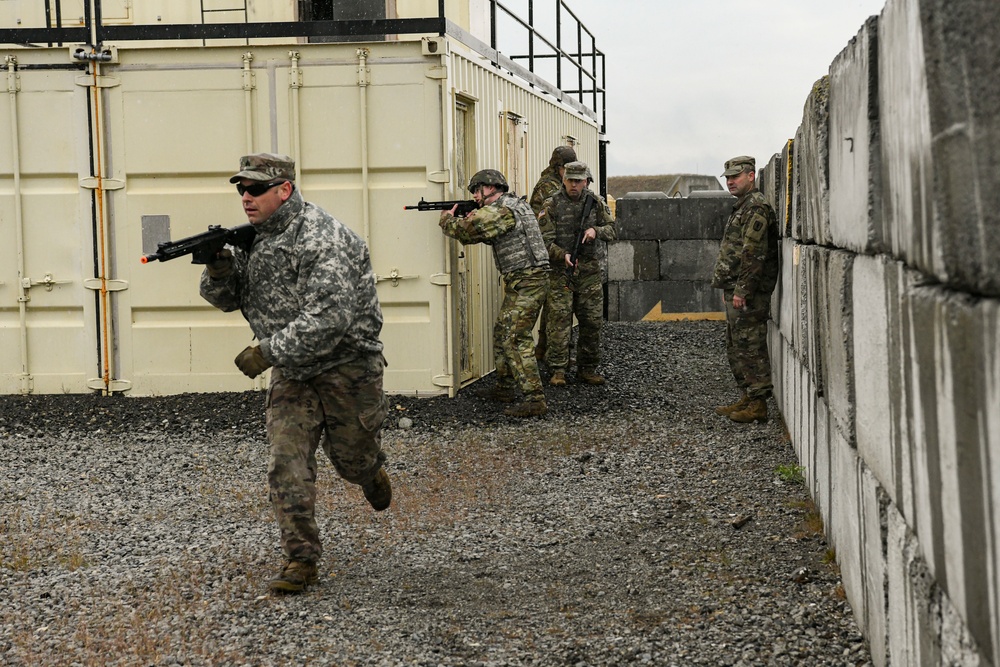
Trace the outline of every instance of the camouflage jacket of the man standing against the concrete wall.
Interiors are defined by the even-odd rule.
[[[770,294],[778,282],[778,221],[760,190],[734,205],[715,263],[712,287],[736,296]]]

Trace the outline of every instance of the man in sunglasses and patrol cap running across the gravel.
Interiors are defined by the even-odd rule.
[[[375,510],[392,500],[382,467],[382,310],[365,242],[305,202],[295,163],[260,153],[230,179],[257,236],[249,252],[226,248],[201,276],[201,295],[241,310],[259,345],[236,357],[248,377],[271,368],[267,471],[287,559],[273,592],[298,592],[317,579],[316,448],[338,475],[361,486]],[[324,437],[325,436],[325,437]]]

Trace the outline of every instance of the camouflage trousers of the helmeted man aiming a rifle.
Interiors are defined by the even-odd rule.
[[[549,290],[545,267],[512,271],[503,276],[503,303],[493,325],[493,361],[501,385],[516,383],[526,400],[542,400],[542,379],[531,331]]]

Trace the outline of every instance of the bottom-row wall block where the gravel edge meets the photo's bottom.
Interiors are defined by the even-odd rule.
[[[864,635],[876,667],[888,664],[888,619],[886,614],[886,508],[890,504],[878,479],[861,462],[859,498],[861,505],[861,561],[864,582]],[[854,604],[852,602],[852,604]],[[857,606],[857,605],[855,605]]]

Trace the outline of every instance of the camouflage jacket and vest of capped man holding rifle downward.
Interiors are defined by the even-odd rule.
[[[573,201],[566,194],[565,188],[560,188],[554,195],[545,200],[542,212],[538,216],[538,224],[543,235],[548,235],[553,240],[548,245],[549,259],[552,266],[562,268],[566,265],[566,255],[573,253],[573,246],[576,245],[576,237],[580,229],[594,228],[597,232],[598,241],[614,241],[618,238],[615,230],[615,219],[611,216],[611,209],[608,208],[604,199],[593,190],[584,190],[583,197],[578,201]],[[592,197],[594,203],[591,205],[587,219],[581,225],[580,218],[583,217],[584,202],[587,197]],[[596,262],[598,260],[598,244],[596,242],[584,243],[580,248],[579,259],[581,263]]]

